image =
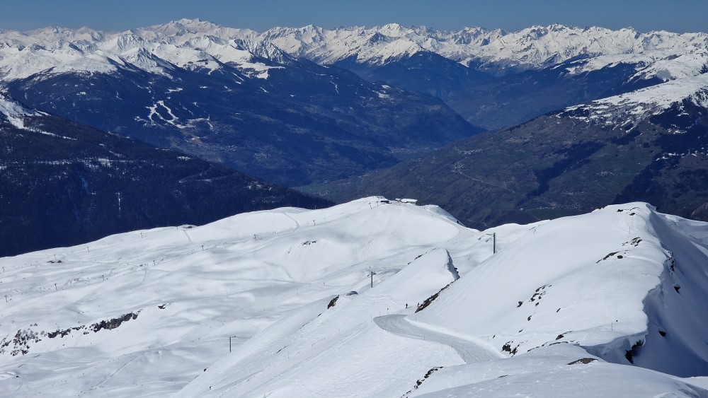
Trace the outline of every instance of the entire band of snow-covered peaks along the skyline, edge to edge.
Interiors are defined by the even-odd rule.
[[[265,42],[264,46],[239,46],[235,40]],[[405,28],[392,23],[374,28],[324,29],[273,28],[263,33],[225,28],[198,19],[182,19],[164,25],[105,33],[89,28],[78,30],[45,28],[19,33],[0,33],[0,78],[13,80],[58,68],[60,71],[110,73],[125,62],[154,73],[169,74],[169,67],[131,58],[136,49],[164,62],[186,68],[219,69],[219,62],[232,62],[246,69],[267,69],[251,57],[267,53],[239,53],[275,45],[293,57],[305,57],[319,64],[355,60],[382,65],[411,57],[421,51],[434,52],[464,65],[496,69],[533,69],[571,62],[568,73],[578,74],[620,62],[637,64],[636,78],[695,76],[708,64],[708,35],[705,33],[638,33],[632,29],[574,28],[565,25],[533,26],[519,32],[464,28],[455,32],[426,27]],[[113,63],[112,63],[113,62]]]

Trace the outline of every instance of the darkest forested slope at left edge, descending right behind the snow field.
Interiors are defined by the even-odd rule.
[[[28,110],[0,95],[0,256],[113,233],[323,207],[222,165]]]

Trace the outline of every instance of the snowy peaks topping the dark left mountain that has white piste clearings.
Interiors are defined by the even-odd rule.
[[[249,37],[253,37],[251,30],[224,28],[198,19],[111,34],[55,28],[6,32],[0,34],[0,42],[5,43],[0,46],[0,80],[13,81],[47,71],[111,73],[124,66],[169,76],[171,65],[213,71],[221,68],[221,63],[257,69],[259,73],[254,76],[263,77],[266,75],[262,72],[268,68],[254,66],[251,58],[285,60],[272,45],[254,47],[261,51],[256,55],[244,54],[231,44],[235,39]]]

